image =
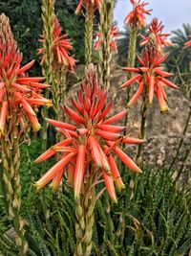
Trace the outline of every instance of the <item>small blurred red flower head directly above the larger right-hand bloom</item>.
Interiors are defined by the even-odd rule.
[[[170,42],[166,41],[166,38],[170,35],[170,34],[163,34],[162,30],[163,30],[163,25],[161,24],[161,22],[159,22],[158,18],[154,18],[151,22],[151,24],[148,26],[149,32],[150,34],[148,36],[143,36],[143,39],[140,41],[140,46],[143,46],[145,44],[148,43],[150,38],[155,38],[156,40],[156,44],[159,48],[159,52],[162,53],[162,46],[172,46],[173,44]]]

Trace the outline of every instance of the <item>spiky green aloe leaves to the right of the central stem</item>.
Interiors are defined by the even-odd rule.
[[[137,178],[126,175],[123,180],[130,185],[116,205],[110,208],[106,197],[97,202],[96,254],[187,255],[191,194],[180,191],[165,170],[158,175],[144,170]]]

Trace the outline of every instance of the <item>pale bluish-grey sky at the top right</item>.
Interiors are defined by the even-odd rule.
[[[147,15],[146,23],[150,23],[153,17],[158,17],[164,25],[165,33],[181,29],[183,23],[191,24],[191,0],[144,0],[144,2],[149,3],[146,10],[153,9],[151,15]],[[114,18],[120,30],[123,28],[125,16],[131,10],[130,0],[117,0]]]

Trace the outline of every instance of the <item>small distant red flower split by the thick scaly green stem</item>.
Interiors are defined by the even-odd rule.
[[[101,37],[101,33],[100,32],[96,32],[96,44],[95,44],[95,49],[98,50],[99,46],[100,46],[100,37]],[[111,43],[110,43],[110,49],[111,51],[115,52],[117,54],[117,45],[116,45],[116,41],[115,38],[120,36],[118,29],[116,26],[112,26],[111,28]]]

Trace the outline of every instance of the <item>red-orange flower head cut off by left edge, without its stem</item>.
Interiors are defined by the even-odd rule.
[[[33,63],[21,67],[22,54],[18,51],[11,34],[9,19],[2,14],[0,18],[0,133],[4,134],[6,121],[14,126],[25,125],[28,117],[34,131],[40,128],[34,109],[37,105],[52,105],[41,95],[48,85],[41,83],[44,78],[31,78],[26,74]],[[16,119],[12,119],[12,115]]]

